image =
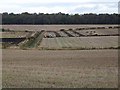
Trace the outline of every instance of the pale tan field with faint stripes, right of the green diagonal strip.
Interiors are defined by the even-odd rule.
[[[44,38],[39,49],[92,49],[118,47],[118,37],[59,37]]]

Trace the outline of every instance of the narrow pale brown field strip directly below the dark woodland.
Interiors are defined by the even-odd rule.
[[[111,27],[118,25],[2,25],[5,29],[17,30],[17,31],[59,31],[60,29],[76,29],[85,27]]]

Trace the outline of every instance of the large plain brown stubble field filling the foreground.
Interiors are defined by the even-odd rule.
[[[3,50],[3,88],[117,88],[117,50]]]

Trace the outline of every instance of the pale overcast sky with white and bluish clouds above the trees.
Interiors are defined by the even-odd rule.
[[[0,13],[118,13],[119,0],[0,0]]]

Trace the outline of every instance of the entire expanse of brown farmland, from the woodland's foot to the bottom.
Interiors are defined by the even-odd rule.
[[[3,25],[3,88],[117,88],[117,25]]]

